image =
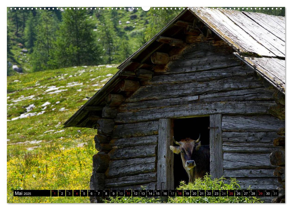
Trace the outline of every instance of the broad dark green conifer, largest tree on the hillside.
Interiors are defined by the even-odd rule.
[[[99,64],[101,50],[93,29],[85,10],[66,10],[50,64],[54,67]]]

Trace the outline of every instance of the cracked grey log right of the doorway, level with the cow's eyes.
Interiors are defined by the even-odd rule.
[[[271,143],[224,142],[222,147],[223,152],[240,153],[271,153],[275,149],[275,146]]]

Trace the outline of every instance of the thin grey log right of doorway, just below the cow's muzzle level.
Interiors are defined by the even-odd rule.
[[[224,177],[272,177],[274,169],[225,169]]]

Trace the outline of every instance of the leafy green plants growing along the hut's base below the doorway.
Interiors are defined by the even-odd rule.
[[[142,189],[143,186],[141,186]],[[185,184],[180,182],[177,190],[236,190],[240,189],[235,178],[229,180],[225,178],[211,179],[210,175],[204,176],[204,179],[196,179],[195,182]],[[263,201],[256,197],[109,197],[105,199],[106,203],[262,203]]]

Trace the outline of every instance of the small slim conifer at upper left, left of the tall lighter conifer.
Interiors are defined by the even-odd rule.
[[[36,21],[32,13],[29,14],[26,20],[24,38],[25,38],[25,46],[28,49],[32,49],[36,40]]]

